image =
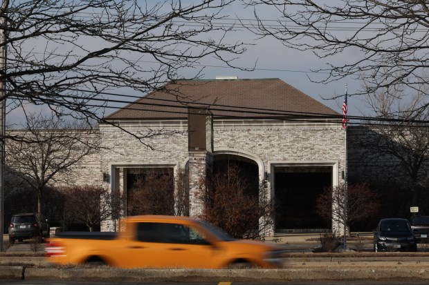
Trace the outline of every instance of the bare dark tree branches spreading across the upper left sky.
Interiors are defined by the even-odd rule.
[[[111,90],[145,94],[198,78],[206,57],[232,66],[246,48],[241,40],[228,43],[235,28],[216,21],[235,1],[6,0],[0,45],[8,47],[8,65],[0,80],[8,110],[35,104],[100,120],[100,109],[124,103]]]

